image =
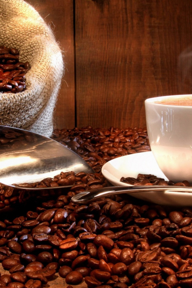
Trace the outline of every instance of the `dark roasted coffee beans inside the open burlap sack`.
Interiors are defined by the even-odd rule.
[[[17,93],[26,90],[25,74],[29,69],[29,61],[19,61],[18,49],[0,46],[1,93]]]

